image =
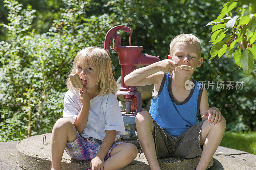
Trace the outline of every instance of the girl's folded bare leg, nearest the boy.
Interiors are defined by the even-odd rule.
[[[109,158],[104,162],[104,170],[121,169],[129,165],[138,154],[138,149],[132,143],[120,143],[109,153]]]

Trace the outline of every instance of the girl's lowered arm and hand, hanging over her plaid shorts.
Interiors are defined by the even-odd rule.
[[[91,167],[97,167],[98,169],[103,169],[104,166],[104,158],[106,157],[109,149],[113,145],[116,138],[115,130],[106,130],[106,136],[104,137],[100,150],[96,154],[95,158],[91,161]]]

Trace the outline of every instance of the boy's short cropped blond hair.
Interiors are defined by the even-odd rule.
[[[175,38],[173,38],[170,44],[170,55],[172,55],[174,44],[178,42],[190,42],[192,44],[196,44],[196,47],[198,48],[199,57],[201,57],[200,40],[195,35],[192,35],[192,34],[180,34],[180,35],[177,35]]]

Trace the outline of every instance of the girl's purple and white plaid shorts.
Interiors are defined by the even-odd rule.
[[[77,131],[77,130],[76,130]],[[95,139],[93,137],[89,137],[88,139],[83,138],[77,132],[77,138],[74,142],[67,142],[66,152],[68,155],[77,160],[90,160],[95,158],[97,152],[100,149],[102,141],[99,139]],[[116,142],[114,141],[113,145],[109,149],[104,161],[109,158],[110,151],[118,144],[124,142]]]

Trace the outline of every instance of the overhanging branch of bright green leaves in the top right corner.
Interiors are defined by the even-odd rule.
[[[232,15],[235,15],[232,18]],[[226,16],[225,18],[223,18]],[[256,58],[256,2],[254,0],[231,0],[223,5],[217,19],[206,26],[212,26],[211,58],[217,54],[219,58],[226,52],[226,56],[234,53],[235,62],[249,75],[254,68]],[[237,45],[240,47],[237,47]],[[243,51],[241,51],[243,50]],[[242,55],[241,55],[242,52]]]

